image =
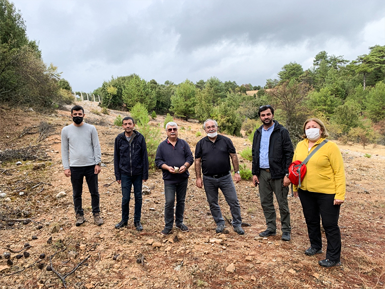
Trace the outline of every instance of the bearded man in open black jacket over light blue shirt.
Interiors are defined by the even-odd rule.
[[[290,241],[289,164],[294,155],[289,131],[274,119],[274,108],[263,105],[258,110],[263,125],[254,133],[253,139],[253,184],[259,186],[261,205],[267,229],[261,237],[276,235],[276,210],[273,192],[276,194],[281,214],[282,240]]]

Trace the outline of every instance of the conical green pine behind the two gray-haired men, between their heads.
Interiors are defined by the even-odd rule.
[[[176,116],[186,120],[193,116],[195,94],[195,85],[188,79],[177,87],[175,94],[171,96],[171,110],[174,111]]]

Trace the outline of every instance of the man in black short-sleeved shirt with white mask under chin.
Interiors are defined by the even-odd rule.
[[[230,206],[234,231],[243,235],[245,231],[241,227],[241,207],[230,173],[231,158],[235,171],[234,180],[236,183],[241,180],[234,145],[228,137],[218,135],[218,123],[215,120],[207,119],[203,128],[207,136],[199,140],[195,147],[196,187],[202,188],[204,184],[211,215],[217,225],[215,232],[221,233],[225,228],[225,222],[218,205],[218,189],[220,189]],[[203,180],[200,176],[200,165],[202,166]]]

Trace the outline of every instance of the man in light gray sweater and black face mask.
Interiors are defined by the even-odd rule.
[[[83,179],[86,177],[91,193],[92,212],[96,225],[101,225],[97,174],[100,173],[101,151],[95,126],[83,122],[84,109],[75,105],[71,109],[73,123],[62,129],[62,163],[64,175],[71,177],[76,226],[86,219],[82,208]]]

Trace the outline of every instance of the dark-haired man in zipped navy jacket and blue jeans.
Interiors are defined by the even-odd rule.
[[[134,226],[143,230],[140,223],[142,212],[142,182],[148,180],[148,156],[146,141],[142,134],[134,130],[135,122],[132,117],[122,120],[124,132],[115,138],[114,169],[116,182],[122,186],[122,220],[115,228],[127,226],[131,187],[134,186],[135,209]]]

